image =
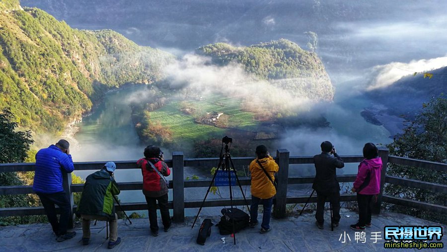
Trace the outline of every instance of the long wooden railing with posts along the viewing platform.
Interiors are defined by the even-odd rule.
[[[383,167],[387,166],[387,163],[407,165],[412,167],[433,169],[447,172],[447,164],[428,162],[422,160],[413,160],[408,158],[400,158],[394,156],[388,156],[388,150],[379,150],[379,156],[382,159]],[[235,167],[248,166],[254,158],[232,158]],[[345,163],[360,163],[363,160],[362,156],[342,156]],[[287,187],[289,184],[310,184],[313,182],[313,176],[289,176],[289,166],[296,164],[313,164],[313,157],[289,157],[289,151],[286,149],[277,150],[275,157],[276,162],[279,165],[279,172],[277,174],[278,190],[277,201],[274,206],[274,212],[276,217],[282,218],[286,216],[286,205],[291,203],[304,203],[308,198],[307,195],[300,196],[288,196]],[[212,168],[216,167],[219,162],[219,158],[202,158],[202,159],[184,159],[182,152],[174,152],[172,154],[172,160],[167,160],[166,163],[169,167],[172,167],[172,181],[170,181],[169,188],[173,191],[172,201],[169,201],[169,207],[173,209],[174,221],[184,222],[185,208],[198,208],[202,204],[202,200],[185,200],[184,188],[191,187],[208,187],[210,185],[210,179],[194,179],[184,180],[183,173],[184,167],[201,167]],[[97,170],[103,166],[105,162],[86,162],[86,163],[74,163],[75,170]],[[136,169],[137,165],[135,161],[117,161],[115,162],[117,169]],[[12,171],[33,171],[34,164],[0,164],[0,172],[12,172]],[[339,182],[354,182],[356,175],[341,175],[338,176]],[[250,179],[242,177],[239,179],[241,185],[250,185]],[[73,201],[73,193],[82,191],[82,184],[71,184],[71,173],[64,173],[63,186],[65,192],[71,199],[73,210],[76,206]],[[446,213],[447,207],[445,205],[435,205],[427,202],[419,202],[415,200],[402,199],[388,195],[382,195],[384,184],[399,184],[409,187],[416,187],[422,189],[432,190],[434,192],[447,193],[446,184],[435,184],[424,181],[418,181],[407,178],[393,177],[386,175],[386,168],[382,169],[381,181],[380,181],[380,193],[377,197],[377,202],[373,206],[373,213],[380,213],[381,202],[388,202],[392,204],[415,207],[419,209],[429,210],[437,213]],[[118,183],[120,190],[141,190],[143,188],[143,182],[123,182]],[[34,193],[32,186],[0,186],[0,195],[11,194],[29,194]],[[341,201],[355,201],[355,194],[342,194]],[[247,198],[250,202],[250,199]],[[312,197],[310,202],[316,202],[316,197]],[[230,204],[229,199],[207,199],[204,207],[216,207],[216,206],[228,206]],[[244,205],[245,202],[242,198],[233,198],[234,205]],[[125,211],[131,210],[147,210],[146,202],[138,203],[121,203],[122,208]],[[25,215],[44,215],[45,211],[43,207],[14,207],[14,208],[0,208],[0,217],[3,216],[25,216]]]

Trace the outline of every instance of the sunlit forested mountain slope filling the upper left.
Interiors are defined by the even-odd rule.
[[[59,132],[125,83],[152,83],[173,56],[111,30],[76,30],[18,0],[0,1],[0,109],[22,127]]]

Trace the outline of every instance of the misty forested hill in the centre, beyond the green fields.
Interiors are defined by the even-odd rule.
[[[305,51],[287,39],[249,47],[216,43],[196,52],[212,57],[215,64],[240,63],[245,71],[296,95],[329,101],[334,96],[329,76],[316,53]]]

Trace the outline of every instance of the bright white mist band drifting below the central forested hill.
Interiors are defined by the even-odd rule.
[[[220,93],[250,103],[291,110],[308,107],[313,100],[303,93],[293,93],[281,85],[287,81],[301,83],[319,81],[302,78],[268,82],[245,72],[240,64],[229,63],[226,66],[218,66],[212,64],[211,58],[193,54],[187,54],[182,60],[168,65],[164,74],[173,88],[193,88],[202,95]]]

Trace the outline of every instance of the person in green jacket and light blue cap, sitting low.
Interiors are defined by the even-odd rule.
[[[115,169],[115,163],[107,162],[101,170],[88,175],[85,179],[77,208],[77,213],[82,217],[83,245],[90,243],[90,220],[108,221],[110,223],[108,249],[113,249],[121,243],[121,238],[118,237],[118,216],[115,213],[113,202],[114,195],[120,193],[113,176]]]

